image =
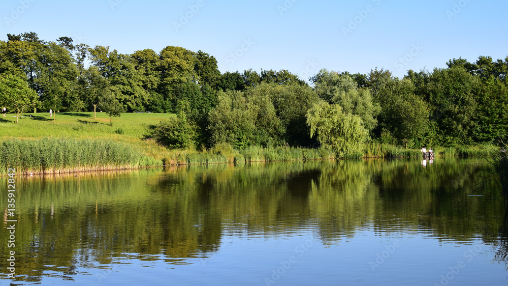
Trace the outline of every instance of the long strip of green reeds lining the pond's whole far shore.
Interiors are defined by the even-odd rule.
[[[437,148],[436,156],[490,156],[495,147]],[[19,175],[139,169],[171,165],[207,165],[274,161],[362,158],[420,158],[420,150],[391,145],[365,145],[365,152],[338,156],[326,148],[259,147],[234,149],[219,144],[211,149],[167,150],[150,140],[105,138],[8,138],[0,141],[0,174],[15,168]]]

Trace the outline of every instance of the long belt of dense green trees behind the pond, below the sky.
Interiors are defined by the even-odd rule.
[[[309,85],[287,70],[221,74],[216,59],[201,50],[121,54],[69,37],[7,37],[0,41],[0,76],[25,81],[38,95],[31,106],[95,111],[107,99],[126,112],[177,113],[153,132],[171,148],[319,142],[355,153],[367,141],[406,148],[488,144],[508,128],[508,57],[453,59],[445,69],[409,70],[404,78],[383,69],[321,70]],[[4,96],[3,103],[9,100]]]

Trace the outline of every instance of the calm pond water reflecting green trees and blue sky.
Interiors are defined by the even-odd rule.
[[[506,284],[489,172],[438,158],[17,177],[15,216],[4,178],[0,283]]]

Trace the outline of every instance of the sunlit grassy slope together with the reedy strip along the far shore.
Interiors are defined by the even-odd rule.
[[[29,118],[31,114],[33,118]],[[0,174],[16,167],[24,174],[130,169],[161,165],[245,163],[260,161],[336,159],[333,150],[292,147],[248,147],[242,150],[220,144],[209,150],[168,150],[149,138],[151,128],[174,117],[161,113],[124,113],[109,126],[105,113],[27,113],[15,124],[0,118]],[[437,156],[488,156],[493,146],[433,147]],[[345,158],[420,158],[420,150],[369,142],[363,153]]]

